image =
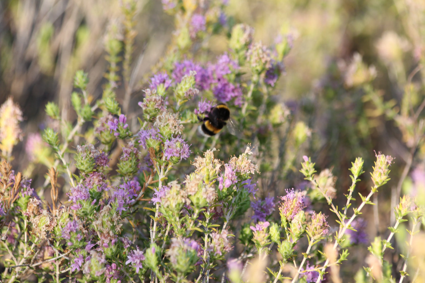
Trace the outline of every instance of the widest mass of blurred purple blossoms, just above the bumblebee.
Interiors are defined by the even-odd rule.
[[[238,69],[238,63],[230,59],[227,54],[223,54],[218,57],[215,64],[209,63],[205,68],[191,60],[176,62],[172,76],[178,83],[184,75],[190,74],[190,71],[195,71],[196,87],[200,91],[211,90],[218,101],[228,102],[235,99],[235,105],[241,105],[242,90],[240,85],[238,83],[232,84],[227,79],[228,75]]]

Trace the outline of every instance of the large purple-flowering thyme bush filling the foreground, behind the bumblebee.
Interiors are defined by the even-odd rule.
[[[140,82],[137,126],[130,103],[133,0],[122,1],[122,21],[108,27],[102,96],[94,99],[88,73],[77,71],[69,93],[76,120],[63,119],[64,109],[48,102],[47,127],[28,136],[26,172],[47,167],[40,188],[12,170],[23,113],[12,99],[1,106],[2,282],[342,282],[348,248],[369,243],[359,216],[388,182],[393,158],[376,154],[366,196],[357,193],[365,169],[356,158],[339,208],[335,198],[344,188],[336,189],[332,170],[315,174],[312,159],[301,157],[312,129],[272,95],[292,36],[276,34],[271,46],[256,42],[251,27],[227,19],[227,1],[161,2],[176,30]],[[205,43],[218,34],[227,51],[211,56]],[[227,103],[236,136],[197,133],[198,116],[218,102]],[[296,189],[272,186],[302,175]],[[271,191],[286,193],[276,198]],[[384,252],[409,214],[413,246],[422,208],[403,196],[388,238],[371,243],[357,282],[395,282]],[[410,255],[399,282],[409,276]]]

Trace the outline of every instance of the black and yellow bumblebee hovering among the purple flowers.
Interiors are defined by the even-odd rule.
[[[230,121],[230,110],[224,103],[212,107],[210,111],[206,111],[205,114],[206,116],[204,119],[198,116],[199,122],[204,122],[199,126],[199,131],[204,134],[204,136],[214,136]]]

